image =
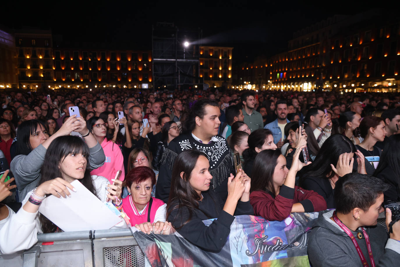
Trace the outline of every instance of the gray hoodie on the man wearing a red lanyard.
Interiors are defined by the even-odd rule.
[[[308,258],[313,267],[318,266],[360,266],[363,267],[360,257],[350,237],[330,219],[333,210],[320,215],[315,221],[308,241]],[[361,231],[361,229],[359,229]],[[351,230],[350,230],[351,231]],[[372,255],[375,265],[379,267],[399,266],[400,242],[388,239],[382,225],[367,227],[366,232],[370,238]],[[353,232],[356,237],[358,232]],[[357,238],[367,263],[371,266],[364,235],[361,240]],[[385,246],[386,244],[386,246]]]

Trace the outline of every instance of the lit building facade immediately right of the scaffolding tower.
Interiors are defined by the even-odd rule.
[[[233,47],[200,46],[200,78],[209,87],[232,84]]]

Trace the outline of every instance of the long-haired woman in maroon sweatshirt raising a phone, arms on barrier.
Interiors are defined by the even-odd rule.
[[[298,159],[302,148],[306,147],[304,136],[300,138],[304,145],[296,148],[293,158],[297,160],[293,161],[290,170],[286,168],[286,159],[280,150],[267,149],[256,156],[250,189],[254,215],[268,221],[282,221],[292,212],[326,209],[326,201],[318,193],[294,185],[296,173],[305,166]]]

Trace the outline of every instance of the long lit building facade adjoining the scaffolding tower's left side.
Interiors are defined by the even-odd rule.
[[[117,86],[149,88],[152,84],[150,50],[54,49],[57,86]],[[64,86],[65,87],[65,86]],[[136,87],[135,87],[136,88]]]

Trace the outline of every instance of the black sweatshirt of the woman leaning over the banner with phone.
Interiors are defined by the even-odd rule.
[[[223,211],[224,201],[214,190],[202,192],[203,199],[198,201],[199,209],[195,210],[192,218],[180,229],[177,229],[190,243],[206,251],[218,252],[226,243],[230,233],[230,225],[235,217]],[[172,207],[177,202],[172,203]],[[254,215],[250,201],[238,201],[234,215]],[[210,216],[210,217],[207,217]],[[204,225],[202,220],[218,218],[210,226]],[[174,228],[179,227],[189,219],[188,208],[175,209],[168,216],[167,221],[172,223]]]

